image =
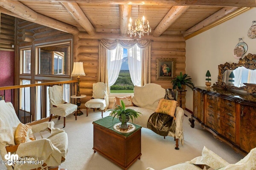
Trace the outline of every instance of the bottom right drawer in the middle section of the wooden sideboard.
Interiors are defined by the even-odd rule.
[[[236,143],[236,123],[220,116],[220,134]]]

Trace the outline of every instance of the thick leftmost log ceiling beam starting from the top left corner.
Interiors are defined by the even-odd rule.
[[[44,16],[42,14],[38,14],[19,1],[1,0],[0,6],[18,15],[18,18],[22,18],[27,21],[38,23],[40,25],[64,31],[66,33],[77,34],[79,32],[76,27],[58,20],[54,20],[53,18]],[[2,13],[4,13],[4,11],[2,11]]]

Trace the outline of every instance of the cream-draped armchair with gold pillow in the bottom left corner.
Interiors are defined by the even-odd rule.
[[[0,154],[4,161],[8,161],[6,154],[16,154],[19,161],[38,161],[38,164],[5,164],[8,170],[58,170],[58,166],[65,161],[68,150],[66,132],[54,128],[54,122],[24,125],[18,119],[12,103],[4,100],[0,100],[0,131]],[[36,139],[35,135],[41,135],[42,139]]]

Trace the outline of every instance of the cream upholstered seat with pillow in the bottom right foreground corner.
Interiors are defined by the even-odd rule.
[[[252,149],[243,159],[235,164],[229,164],[226,160],[204,147],[202,156],[198,156],[188,162],[164,168],[163,170],[202,170],[212,168],[214,170],[256,170],[256,148]],[[146,170],[154,170],[146,168]]]

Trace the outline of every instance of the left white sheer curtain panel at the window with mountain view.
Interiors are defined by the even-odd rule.
[[[123,51],[124,48],[119,45],[114,50],[108,50],[108,86],[112,86],[118,78],[122,66]]]

